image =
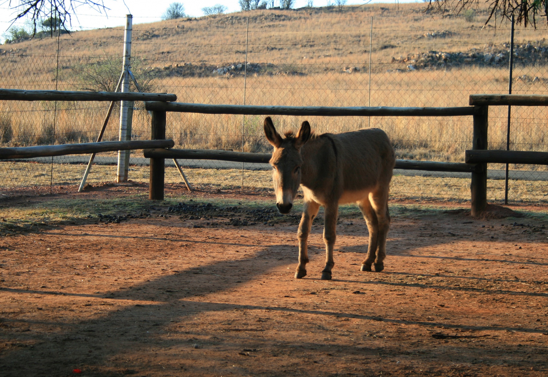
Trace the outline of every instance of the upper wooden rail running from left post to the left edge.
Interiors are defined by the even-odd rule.
[[[4,101],[176,101],[165,93],[0,89]]]

